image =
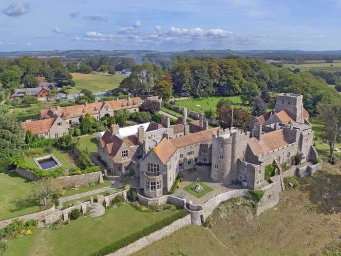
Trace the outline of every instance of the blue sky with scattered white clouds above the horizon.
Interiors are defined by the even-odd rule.
[[[341,0],[1,0],[0,52],[341,50]]]

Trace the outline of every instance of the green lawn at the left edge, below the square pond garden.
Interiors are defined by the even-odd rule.
[[[38,212],[39,206],[22,200],[31,191],[30,182],[15,174],[0,174],[0,219]]]

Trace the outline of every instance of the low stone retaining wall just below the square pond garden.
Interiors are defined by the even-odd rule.
[[[79,174],[65,177],[58,177],[53,179],[56,183],[60,184],[64,188],[70,188],[75,186],[85,186],[88,184],[103,183],[102,172]]]

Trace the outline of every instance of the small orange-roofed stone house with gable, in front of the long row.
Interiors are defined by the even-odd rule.
[[[44,138],[59,138],[69,132],[70,125],[61,117],[55,115],[53,118],[42,120],[27,120],[21,123],[25,131],[30,130],[32,134],[38,134]]]

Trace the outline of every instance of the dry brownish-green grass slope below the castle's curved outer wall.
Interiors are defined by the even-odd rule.
[[[210,230],[226,247],[204,227],[190,225],[133,256],[170,256],[178,251],[186,256],[339,256],[340,165],[327,164],[300,183],[298,189],[285,189],[281,201],[259,217],[240,206],[243,199],[220,204],[211,215]]]

